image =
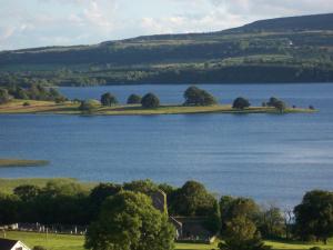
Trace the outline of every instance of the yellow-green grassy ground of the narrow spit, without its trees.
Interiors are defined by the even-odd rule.
[[[28,102],[29,106],[24,106]],[[64,102],[57,104],[52,101],[34,100],[12,100],[0,106],[0,113],[59,113],[59,114],[81,114],[78,109],[79,103]],[[284,113],[292,112],[314,112],[310,109],[285,109]],[[144,114],[181,114],[181,113],[279,113],[271,107],[251,107],[244,110],[233,109],[228,104],[208,107],[184,107],[179,104],[161,106],[155,109],[143,109],[141,106],[97,106],[90,114],[95,116],[144,116]]]

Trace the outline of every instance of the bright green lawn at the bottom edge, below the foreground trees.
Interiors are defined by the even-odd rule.
[[[0,238],[3,232],[0,232]],[[82,236],[65,236],[65,234],[51,234],[48,237],[46,233],[33,232],[6,232],[6,238],[21,240],[28,247],[43,246],[48,250],[83,250],[84,237]],[[279,242],[266,241],[266,244],[272,246],[274,250],[307,250],[311,247],[319,246],[322,249],[333,249],[333,241],[329,241],[326,246],[312,244],[303,242]],[[176,243],[176,250],[211,250],[218,249],[216,244],[191,244],[191,243]]]

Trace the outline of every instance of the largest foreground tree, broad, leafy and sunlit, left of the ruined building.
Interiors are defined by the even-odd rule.
[[[143,193],[120,192],[108,198],[85,236],[92,250],[172,250],[175,231],[168,217]]]

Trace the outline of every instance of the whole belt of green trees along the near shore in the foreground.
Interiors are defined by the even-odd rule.
[[[150,180],[100,183],[88,191],[78,183],[51,181],[19,186],[0,193],[0,224],[40,222],[47,227],[88,226],[85,248],[172,250],[175,230],[168,212],[155,209],[151,194],[162,190],[170,216],[205,218],[219,234],[221,250],[266,250],[263,239],[323,241],[333,236],[333,192],[307,192],[294,209],[260,207],[254,200],[222,196],[219,200],[196,181],[181,188]]]

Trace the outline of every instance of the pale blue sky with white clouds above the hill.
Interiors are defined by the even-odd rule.
[[[333,0],[0,0],[0,50],[209,32],[333,12]]]

